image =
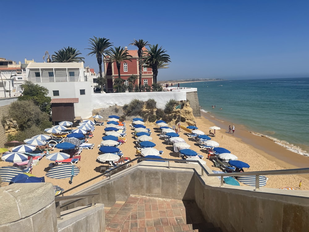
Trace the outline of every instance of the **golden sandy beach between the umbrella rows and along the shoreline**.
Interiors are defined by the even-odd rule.
[[[224,147],[231,151],[232,154],[238,157],[238,160],[246,162],[250,165],[249,169],[245,171],[262,171],[262,170],[282,170],[282,169],[293,169],[300,167],[309,166],[309,158],[302,157],[296,153],[290,152],[285,148],[273,143],[272,141],[253,135],[252,133],[238,128],[235,125],[235,135],[227,133],[228,122],[219,122],[219,121],[210,121],[207,118],[209,115],[203,114],[203,117],[196,118],[196,124],[199,130],[204,131],[205,134],[208,134],[209,127],[217,125],[221,127],[221,130],[216,130],[216,136],[212,140],[217,141],[220,144],[220,147]],[[205,118],[207,117],[207,118]],[[91,118],[90,118],[91,119]],[[212,119],[211,119],[212,120]],[[106,121],[104,121],[106,123]],[[126,143],[122,144],[119,148],[124,153],[124,157],[130,157],[131,159],[136,158],[136,147],[134,141],[136,141],[132,132],[133,128],[129,127],[130,121],[126,121],[127,124],[127,136]],[[182,125],[185,125],[184,123]],[[152,142],[156,144],[155,148],[157,150],[162,150],[164,153],[163,158],[174,158],[179,159],[178,153],[172,151],[172,146],[167,145],[163,139],[159,138],[159,131],[155,130],[157,128],[155,123],[146,122],[145,126],[151,129],[153,138]],[[170,125],[172,126],[172,125]],[[104,126],[95,126],[95,131],[93,132],[94,137],[89,139],[89,143],[95,144],[93,149],[83,149],[81,153],[81,160],[78,161],[76,166],[80,167],[80,173],[77,176],[74,176],[73,183],[70,184],[70,178],[67,179],[52,179],[45,176],[46,171],[49,170],[49,164],[52,161],[47,160],[43,157],[39,165],[33,166],[32,174],[37,177],[45,176],[45,182],[51,182],[53,185],[58,185],[65,190],[70,189],[80,183],[87,181],[90,178],[93,178],[100,174],[100,167],[107,166],[107,164],[99,163],[96,158],[99,154],[99,149],[97,145],[101,143],[102,136],[104,133]],[[205,150],[198,147],[198,145],[189,139],[186,135],[186,131],[180,131],[180,137],[183,138],[188,144],[191,145],[190,149],[201,153],[206,161],[206,165],[212,170],[219,170],[213,166],[212,161],[207,159],[207,154]],[[59,149],[55,148],[54,152],[58,152]],[[11,166],[12,163],[5,161],[0,162],[0,166]],[[269,188],[280,188],[280,187],[293,187],[295,190],[309,190],[309,181],[308,175],[279,175],[279,176],[267,176],[269,178],[266,187]],[[80,189],[83,189],[86,186],[89,186],[103,177],[100,177],[92,182],[87,183],[74,189],[72,192],[68,192],[67,195],[72,194]],[[301,188],[298,187],[300,180],[302,179]],[[5,184],[5,183],[4,183]]]

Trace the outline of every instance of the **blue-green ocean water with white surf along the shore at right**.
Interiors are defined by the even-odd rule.
[[[197,88],[201,110],[210,116],[309,156],[309,78],[191,82],[180,87]]]

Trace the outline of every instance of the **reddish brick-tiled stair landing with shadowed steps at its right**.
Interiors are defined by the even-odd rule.
[[[195,202],[131,195],[105,208],[107,232],[221,232]]]

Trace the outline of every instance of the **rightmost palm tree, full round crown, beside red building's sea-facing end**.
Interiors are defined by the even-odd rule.
[[[158,68],[162,68],[163,63],[171,62],[166,52],[162,46],[158,49],[158,44],[156,44],[149,46],[147,54],[142,58],[142,62],[146,63],[147,67],[151,67],[155,84],[157,84]]]

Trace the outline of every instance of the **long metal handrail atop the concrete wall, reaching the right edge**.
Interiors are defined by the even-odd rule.
[[[99,178],[101,176],[104,176],[106,174],[109,174],[109,179],[111,178],[111,174],[110,172],[112,171],[115,171],[116,169],[118,168],[121,168],[125,165],[128,165],[129,163],[132,163],[136,160],[158,160],[158,161],[168,161],[168,167],[167,168],[170,168],[170,161],[176,161],[176,162],[181,162],[181,163],[186,163],[186,162],[197,162],[198,165],[200,165],[201,167],[201,176],[204,176],[204,172],[207,174],[207,176],[221,176],[221,185],[220,187],[223,186],[223,176],[252,176],[252,175],[255,175],[256,176],[256,186],[255,186],[255,191],[257,190],[260,190],[260,178],[259,176],[260,175],[288,175],[288,174],[309,174],[309,168],[298,168],[298,169],[286,169],[286,170],[269,170],[269,171],[253,171],[253,172],[233,172],[233,173],[219,173],[219,174],[215,174],[215,173],[209,173],[205,167],[197,160],[190,160],[190,161],[187,161],[187,160],[179,160],[179,159],[164,159],[164,158],[145,158],[145,157],[137,157],[133,160],[130,160],[122,165],[119,165],[115,168],[113,168],[112,170],[107,170],[105,171],[104,173],[102,174],[99,174],[98,176],[95,176],[83,183],[80,183],[66,191],[63,191],[61,192],[60,194],[63,195],[64,193],[68,192],[68,191],[72,191],[73,189],[79,187],[79,186],[82,186],[92,180],[95,180],[96,178]],[[59,195],[60,195],[59,194]]]

